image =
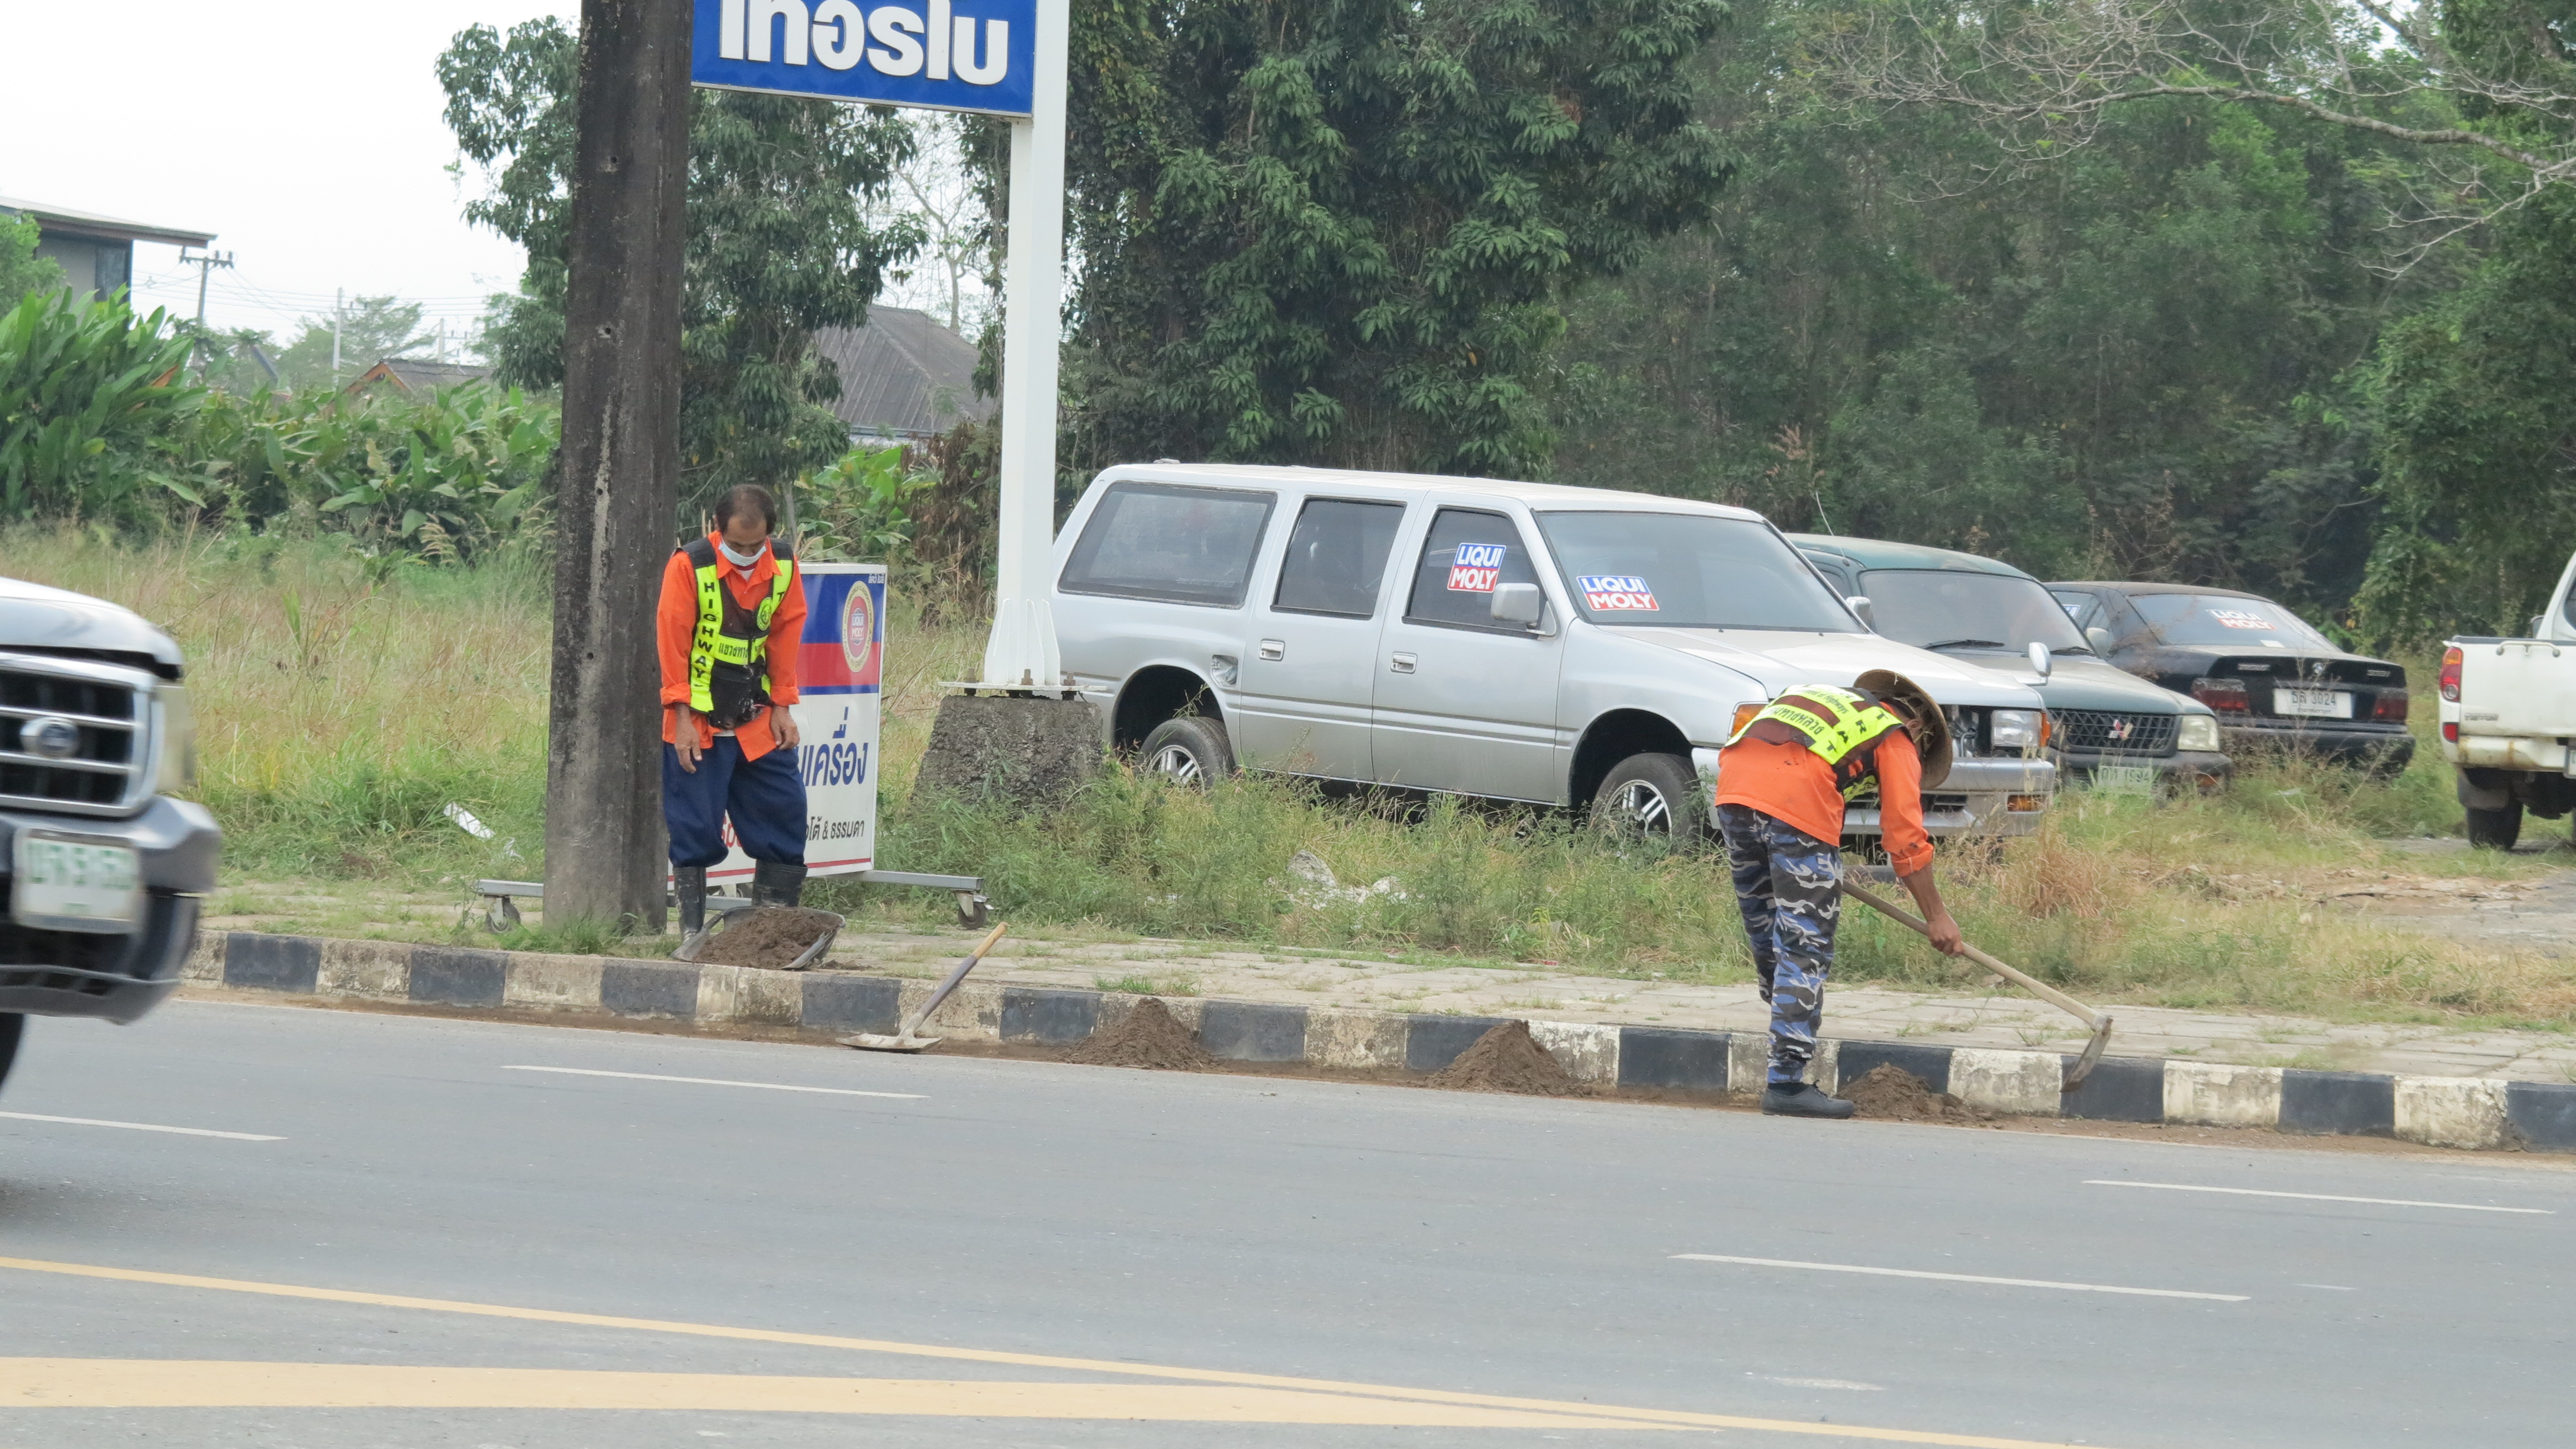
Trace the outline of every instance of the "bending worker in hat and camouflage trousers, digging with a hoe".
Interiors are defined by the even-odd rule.
[[[1950,776],[1950,722],[1893,670],[1852,688],[1798,686],[1718,750],[1718,833],[1736,877],[1762,1000],[1772,1008],[1762,1111],[1850,1116],[1852,1104],[1806,1083],[1824,1026],[1824,977],[1842,920],[1842,807],[1878,792],[1880,841],[1914,895],[1932,946],[1960,954],[1958,923],[1932,884],[1922,792]]]

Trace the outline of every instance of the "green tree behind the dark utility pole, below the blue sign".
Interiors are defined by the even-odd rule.
[[[528,21],[461,31],[438,57],[448,129],[489,188],[466,217],[520,242],[528,271],[495,299],[484,351],[528,387],[562,384],[574,36]],[[786,485],[837,462],[840,376],[817,327],[855,327],[889,266],[920,248],[904,219],[868,224],[866,201],[912,152],[884,106],[698,90],[690,98],[688,273],[683,291],[683,511],[737,482]]]

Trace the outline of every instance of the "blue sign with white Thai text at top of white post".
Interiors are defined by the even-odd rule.
[[[1036,0],[696,0],[688,77],[721,90],[1028,116]]]

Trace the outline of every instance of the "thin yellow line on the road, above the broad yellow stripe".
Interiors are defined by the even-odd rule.
[[[106,1269],[93,1263],[52,1263],[44,1258],[0,1258],[0,1269],[28,1274],[62,1274],[75,1279],[108,1279],[124,1284],[162,1284],[180,1289],[216,1289],[263,1297],[299,1297],[314,1302],[353,1302],[368,1307],[412,1307],[422,1312],[464,1312],[477,1318],[513,1318],[523,1323],[569,1323],[582,1328],[629,1328],[639,1333],[685,1333],[693,1338],[734,1338],[747,1343],[804,1343],[811,1348],[853,1348],[860,1354],[904,1354],[914,1359],[953,1359],[963,1364],[1010,1364],[1020,1369],[1074,1369],[1090,1374],[1121,1374],[1146,1379],[1190,1379],[1200,1385],[1236,1385],[1262,1390],[1303,1390],[1332,1395],[1368,1395],[1404,1403],[1448,1403],[1473,1408],[1517,1408],[1533,1413],[1566,1413],[1584,1418],[1615,1418],[1638,1428],[1759,1428],[1770,1434],[1808,1434],[1819,1439],[1862,1439],[1873,1444],[1937,1444],[1942,1449],[2069,1449],[2063,1444],[2038,1444],[2030,1439],[1991,1439],[1978,1434],[1935,1434],[1924,1428],[1865,1428],[1855,1423],[1801,1423],[1793,1418],[1744,1418],[1731,1413],[1685,1413],[1664,1408],[1623,1408],[1605,1403],[1566,1403],[1507,1395],[1461,1395],[1448,1390],[1409,1390],[1396,1385],[1352,1385],[1337,1379],[1298,1379],[1285,1374],[1236,1374],[1226,1369],[1177,1369],[1159,1364],[1121,1364],[1115,1359],[1064,1359],[1054,1354],[1010,1354],[999,1348],[951,1348],[943,1343],[902,1343],[891,1338],[842,1338],[835,1333],[786,1333],[775,1328],[734,1328],[724,1323],[672,1323],[662,1318],[618,1318],[605,1312],[564,1312],[551,1307],[507,1307],[492,1302],[461,1302],[443,1297],[371,1294],[350,1289],[317,1289],[301,1284],[263,1284],[250,1279],[206,1279],[196,1274],[155,1274],[149,1269]]]

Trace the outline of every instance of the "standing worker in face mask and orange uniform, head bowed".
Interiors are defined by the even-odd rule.
[[[770,490],[732,487],[716,500],[716,531],[662,567],[662,820],[690,936],[706,928],[706,866],[724,859],[726,815],[752,856],[752,900],[804,895],[806,797],[788,706],[806,601],[775,529]]]

